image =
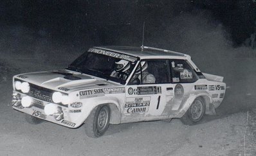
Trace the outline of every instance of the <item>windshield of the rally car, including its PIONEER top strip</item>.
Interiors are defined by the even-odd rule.
[[[125,83],[136,61],[133,56],[91,48],[66,69]]]

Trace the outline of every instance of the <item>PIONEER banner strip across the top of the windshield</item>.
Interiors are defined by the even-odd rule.
[[[123,60],[128,60],[128,61],[131,61],[131,62],[135,62],[137,60],[137,58],[134,57],[134,56],[123,55],[123,54],[120,54],[120,53],[114,53],[112,51],[105,51],[105,50],[102,50],[102,49],[90,48],[88,51],[91,52],[91,53],[98,53],[98,54],[102,54],[102,55],[112,56],[112,57],[115,57],[115,58],[120,58],[120,59],[123,59]]]

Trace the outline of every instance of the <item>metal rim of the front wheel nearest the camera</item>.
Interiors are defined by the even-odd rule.
[[[109,113],[107,107],[102,107],[100,112],[98,113],[98,120],[97,120],[97,129],[98,132],[104,131],[107,126],[107,122],[109,119]]]

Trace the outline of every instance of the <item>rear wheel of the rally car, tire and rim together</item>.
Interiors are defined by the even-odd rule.
[[[181,117],[181,122],[185,125],[196,125],[205,115],[205,100],[196,98],[187,112]]]

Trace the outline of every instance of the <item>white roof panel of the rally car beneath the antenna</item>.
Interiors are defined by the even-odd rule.
[[[159,48],[151,48],[147,46],[142,47],[130,47],[130,46],[100,46],[100,47],[94,47],[97,49],[104,49],[107,51],[114,51],[118,53],[123,53],[126,55],[136,56],[140,58],[150,58],[151,56],[160,56],[160,57],[166,57],[166,56],[178,56],[178,57],[187,57],[188,55],[185,55],[183,53],[178,53],[175,51],[169,51],[166,49],[159,49]]]

